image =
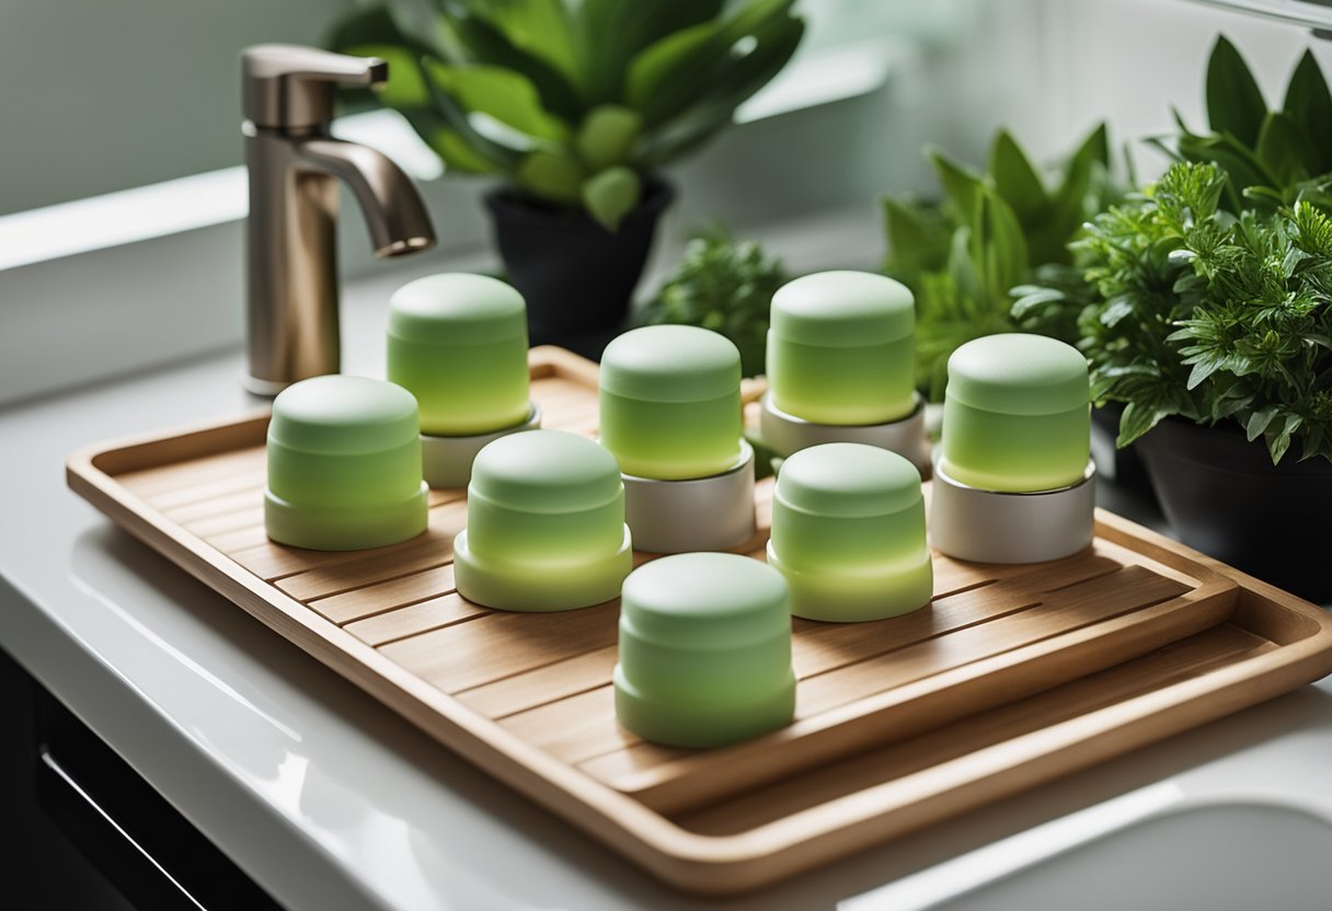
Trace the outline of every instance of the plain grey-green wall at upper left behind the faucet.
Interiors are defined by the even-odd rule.
[[[350,0],[0,0],[0,214],[241,161],[238,49]]]

